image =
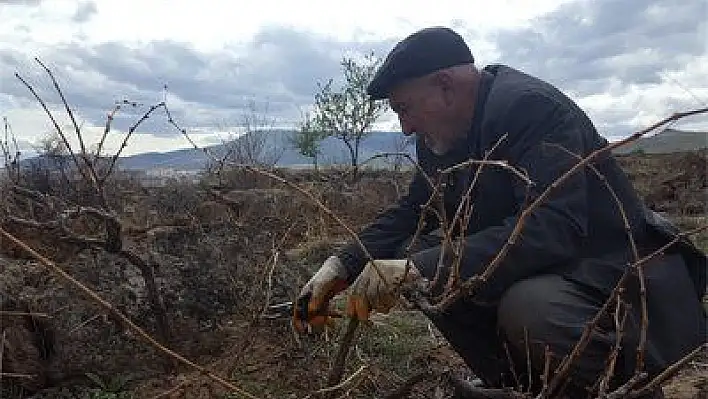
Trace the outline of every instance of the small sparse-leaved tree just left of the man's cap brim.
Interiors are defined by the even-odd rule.
[[[333,80],[319,85],[315,95],[313,125],[325,137],[335,137],[347,146],[351,166],[356,175],[361,141],[371,133],[376,120],[386,109],[382,101],[372,101],[366,86],[376,73],[379,60],[368,54],[362,62],[344,57],[341,61],[344,84],[333,87]]]

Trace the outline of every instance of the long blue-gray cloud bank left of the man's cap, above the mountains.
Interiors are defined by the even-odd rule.
[[[300,107],[309,105],[317,82],[341,75],[344,51],[379,55],[392,43],[341,43],[287,28],[266,28],[248,43],[204,53],[174,41],[153,41],[140,47],[122,43],[86,46],[66,43],[45,49],[39,57],[54,70],[69,101],[94,124],[105,122],[115,101],[127,99],[145,104],[128,110],[116,124],[130,123],[147,106],[163,99],[176,119],[191,126],[237,124],[251,102],[259,104],[278,122],[294,122]],[[27,56],[0,49],[0,69],[17,70],[42,92],[56,98],[46,76]],[[30,99],[18,81],[0,79],[3,92]],[[163,119],[164,121],[164,119]],[[143,131],[160,132],[165,124],[149,121]]]

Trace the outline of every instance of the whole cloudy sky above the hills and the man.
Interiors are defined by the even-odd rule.
[[[52,125],[15,73],[68,123],[35,57],[54,71],[89,144],[117,101],[142,105],[121,111],[109,150],[166,95],[178,123],[207,145],[253,107],[297,123],[317,83],[340,76],[343,56],[383,57],[431,25],[460,32],[481,66],[555,84],[611,139],[708,105],[708,0],[0,0],[0,21],[0,116],[25,147]],[[399,129],[391,115],[378,127]],[[708,118],[676,127],[708,130]],[[123,153],[185,147],[157,113]]]

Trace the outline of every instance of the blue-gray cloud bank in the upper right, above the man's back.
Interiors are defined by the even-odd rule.
[[[495,36],[500,61],[579,95],[604,92],[609,78],[660,83],[706,50],[706,2],[594,0],[561,6],[521,30]]]

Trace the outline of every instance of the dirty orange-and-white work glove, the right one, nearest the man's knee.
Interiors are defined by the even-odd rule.
[[[352,283],[347,299],[346,314],[366,321],[375,310],[388,313],[400,299],[400,287],[421,281],[422,275],[413,262],[407,259],[375,260],[376,268],[369,262]],[[406,271],[406,265],[407,271]],[[376,270],[378,268],[378,271]]]

